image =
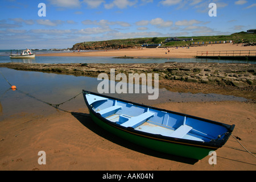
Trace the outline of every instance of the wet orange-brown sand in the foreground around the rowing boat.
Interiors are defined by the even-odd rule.
[[[233,135],[256,152],[256,105],[241,102],[186,102],[159,104],[168,110],[235,124]],[[225,108],[225,109],[224,109]],[[206,170],[255,171],[256,160],[230,137],[217,152],[203,160],[180,158],[148,150],[118,139],[98,127],[86,106],[77,113],[33,115],[20,113],[0,122],[0,170]],[[46,165],[38,164],[38,152],[46,152]]]

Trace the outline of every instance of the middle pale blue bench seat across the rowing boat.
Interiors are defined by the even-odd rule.
[[[146,113],[143,113],[141,115],[131,117],[128,121],[122,123],[121,126],[135,128],[135,127],[138,127],[139,125],[142,125],[142,123],[144,123],[148,118],[154,115],[155,115],[154,113],[147,111]]]

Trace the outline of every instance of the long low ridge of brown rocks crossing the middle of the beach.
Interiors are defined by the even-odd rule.
[[[236,87],[256,85],[255,64],[230,63],[148,63],[148,64],[22,64],[0,63],[0,67],[27,71],[97,77],[114,68],[116,73],[159,73],[160,78],[186,82],[229,85]]]

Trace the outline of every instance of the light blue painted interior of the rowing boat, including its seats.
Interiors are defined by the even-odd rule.
[[[110,122],[123,127],[165,137],[209,142],[227,132],[224,126],[187,117],[167,111],[134,105],[106,97],[86,94],[86,100],[92,109]]]

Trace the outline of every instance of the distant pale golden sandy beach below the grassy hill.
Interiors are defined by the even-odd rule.
[[[138,49],[113,49],[90,52],[65,52],[65,53],[49,53],[39,54],[36,56],[105,56],[105,57],[164,57],[164,58],[193,58],[197,51],[240,51],[240,50],[256,50],[254,46],[244,47],[242,44],[212,44],[197,47],[170,47],[170,53],[167,48],[138,48]]]

